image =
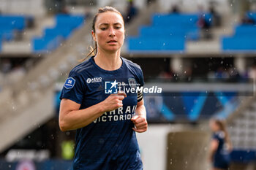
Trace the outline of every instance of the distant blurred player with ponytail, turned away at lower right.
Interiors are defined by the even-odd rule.
[[[213,164],[213,170],[228,169],[232,145],[225,123],[222,120],[213,119],[210,120],[210,128],[213,131],[210,145],[210,161]]]

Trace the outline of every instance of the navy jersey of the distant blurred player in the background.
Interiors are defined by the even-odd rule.
[[[214,167],[227,169],[230,163],[230,155],[225,147],[225,133],[223,131],[217,131],[212,138],[219,142],[217,151],[214,154]]]

